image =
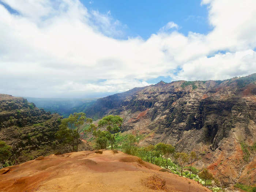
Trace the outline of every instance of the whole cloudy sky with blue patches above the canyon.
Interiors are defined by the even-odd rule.
[[[0,0],[0,93],[103,97],[256,72],[255,0]]]

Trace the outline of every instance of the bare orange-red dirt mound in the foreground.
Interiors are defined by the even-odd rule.
[[[210,192],[194,180],[159,172],[160,169],[117,151],[50,155],[7,167],[7,173],[0,174],[0,191]]]

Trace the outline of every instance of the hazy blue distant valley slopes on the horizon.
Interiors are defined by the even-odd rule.
[[[64,118],[74,112],[84,112],[95,103],[96,98],[85,99],[65,99],[65,98],[33,98],[26,97],[29,102],[35,103],[38,108],[51,113],[58,113]]]

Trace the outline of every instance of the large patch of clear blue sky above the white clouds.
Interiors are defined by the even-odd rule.
[[[113,18],[127,25],[122,38],[140,36],[148,39],[169,21],[181,26],[178,31],[185,35],[188,31],[207,34],[212,29],[207,22],[207,5],[201,5],[200,0],[82,0],[81,2],[88,10],[98,10],[101,13],[110,11]]]

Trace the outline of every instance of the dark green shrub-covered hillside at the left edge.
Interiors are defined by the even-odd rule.
[[[67,146],[60,145],[55,138],[60,123],[59,114],[38,109],[25,98],[0,94],[0,140],[12,147],[9,163],[29,161],[56,151],[67,152]]]

